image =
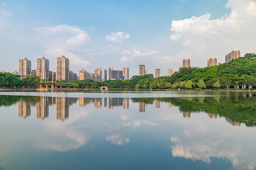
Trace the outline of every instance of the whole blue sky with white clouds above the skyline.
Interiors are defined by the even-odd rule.
[[[167,76],[190,59],[206,67],[230,51],[256,53],[256,0],[0,0],[0,70],[18,71],[19,59],[70,60],[78,74],[139,65]]]

